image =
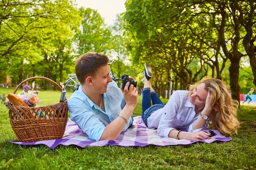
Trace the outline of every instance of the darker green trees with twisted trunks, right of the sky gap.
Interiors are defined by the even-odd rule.
[[[153,84],[164,79],[184,89],[202,77],[223,78],[238,99],[240,59],[248,55],[252,68],[256,63],[253,1],[128,0],[125,4],[124,28],[132,61],[156,67],[154,75],[160,79],[153,79]]]

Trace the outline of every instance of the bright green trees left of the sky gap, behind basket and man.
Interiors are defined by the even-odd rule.
[[[119,60],[113,68],[117,75],[124,70],[129,53],[119,31],[120,16],[115,26],[107,26],[96,10],[77,9],[74,0],[7,0],[0,2],[0,12],[0,83],[7,76],[9,86],[34,76],[65,82],[75,72],[75,59],[88,51]]]

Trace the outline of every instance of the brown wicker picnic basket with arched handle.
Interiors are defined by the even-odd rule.
[[[61,86],[47,77],[30,77],[23,80],[13,94],[22,84],[32,79],[45,79],[62,91]],[[61,139],[63,137],[68,116],[67,98],[64,102],[50,106],[25,107],[13,104],[8,106],[11,127],[20,142]]]

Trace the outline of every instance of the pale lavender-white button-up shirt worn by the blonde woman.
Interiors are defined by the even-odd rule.
[[[192,126],[200,114],[195,114],[195,105],[187,97],[188,91],[175,91],[167,104],[148,117],[148,128],[157,128],[157,134],[168,137],[173,129],[187,132],[199,132],[207,129],[209,122],[203,128],[193,130]]]

